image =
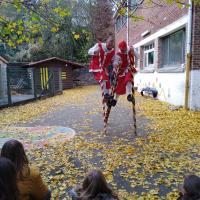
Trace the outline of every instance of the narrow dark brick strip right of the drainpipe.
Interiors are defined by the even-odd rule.
[[[200,6],[193,9],[192,69],[200,69]]]

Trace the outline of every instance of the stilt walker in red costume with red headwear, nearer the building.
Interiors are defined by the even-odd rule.
[[[112,93],[116,94],[115,98],[109,101],[108,109],[106,111],[105,122],[107,125],[111,106],[115,106],[119,95],[127,94],[127,100],[132,102],[134,133],[136,135],[136,111],[135,111],[135,93],[133,74],[136,73],[134,67],[134,49],[128,50],[125,41],[119,43],[120,51],[116,54],[114,59],[114,74],[116,75],[116,83],[112,86]],[[113,89],[114,88],[114,89]]]

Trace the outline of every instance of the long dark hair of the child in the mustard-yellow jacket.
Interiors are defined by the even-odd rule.
[[[10,159],[14,163],[21,180],[24,178],[23,170],[26,169],[27,173],[30,173],[28,158],[21,142],[17,140],[6,142],[2,147],[1,156]]]

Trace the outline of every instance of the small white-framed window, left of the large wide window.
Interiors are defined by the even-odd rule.
[[[154,43],[144,46],[144,68],[154,67]]]

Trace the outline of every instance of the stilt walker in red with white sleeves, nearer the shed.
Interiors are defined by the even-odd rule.
[[[101,86],[104,127],[106,102],[112,99],[112,96],[109,94],[110,80],[108,67],[111,65],[115,55],[113,42],[113,38],[110,36],[106,43],[99,42],[88,51],[88,54],[92,56],[89,72],[94,74],[94,78]]]

